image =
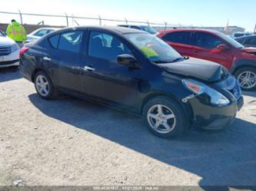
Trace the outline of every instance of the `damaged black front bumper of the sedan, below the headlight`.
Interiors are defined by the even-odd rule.
[[[194,125],[208,130],[221,130],[228,127],[244,104],[244,98],[240,97],[227,106],[213,106],[205,104],[203,99],[194,97],[189,100],[194,112]]]

